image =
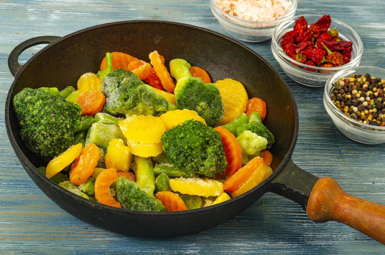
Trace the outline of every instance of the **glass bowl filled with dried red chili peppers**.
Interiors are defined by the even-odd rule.
[[[335,72],[360,64],[363,44],[345,23],[329,15],[307,14],[275,28],[271,51],[291,79],[323,87]]]

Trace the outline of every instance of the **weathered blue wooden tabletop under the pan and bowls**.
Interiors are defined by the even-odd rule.
[[[363,40],[361,64],[385,67],[383,0],[300,0],[297,14],[305,13],[330,14],[349,24]],[[169,239],[106,232],[50,201],[25,173],[8,141],[4,103],[13,82],[8,55],[31,37],[63,36],[92,25],[131,19],[182,22],[226,34],[208,0],[0,0],[0,254],[385,253],[380,243],[341,223],[313,223],[300,205],[272,193],[219,226]],[[300,130],[293,161],[318,176],[331,176],[353,196],[385,204],[384,145],[359,144],[343,136],[323,107],[323,89],[291,81],[271,54],[270,40],[247,45],[281,72],[295,96]],[[41,48],[27,50],[20,62]]]

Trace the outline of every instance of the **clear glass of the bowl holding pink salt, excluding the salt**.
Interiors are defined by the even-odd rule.
[[[216,3],[211,0],[210,8],[219,24],[232,37],[244,42],[263,42],[271,38],[275,27],[281,22],[290,19],[297,10],[297,0],[288,0],[291,3],[290,12],[283,18],[273,21],[256,22],[243,20],[224,12]]]

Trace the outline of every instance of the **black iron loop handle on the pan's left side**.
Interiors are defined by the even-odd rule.
[[[17,45],[8,57],[8,67],[13,77],[15,77],[18,71],[22,68],[22,65],[19,64],[18,57],[20,56],[20,54],[22,54],[24,50],[39,44],[50,44],[59,38],[61,37],[53,35],[44,35],[33,37]]]

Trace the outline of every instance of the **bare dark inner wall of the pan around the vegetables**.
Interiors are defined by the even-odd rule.
[[[11,110],[13,95],[25,87],[76,87],[80,75],[100,69],[105,52],[124,52],[149,61],[153,50],[165,57],[166,66],[171,59],[186,59],[192,66],[205,69],[213,82],[235,79],[246,87],[249,98],[266,101],[268,113],[263,123],[276,140],[270,149],[271,167],[280,165],[295,139],[296,125],[295,103],[280,75],[259,55],[226,37],[187,25],[151,21],[107,24],[76,32],[49,45],[27,63],[13,84],[7,105],[11,132],[22,153],[36,167],[45,164],[20,138]]]

